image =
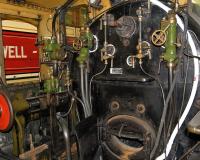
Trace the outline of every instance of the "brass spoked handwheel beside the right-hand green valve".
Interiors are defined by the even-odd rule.
[[[153,34],[152,34],[152,43],[155,46],[162,46],[167,39],[166,33],[163,30],[156,30]]]

